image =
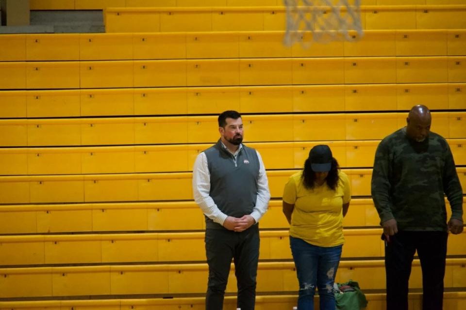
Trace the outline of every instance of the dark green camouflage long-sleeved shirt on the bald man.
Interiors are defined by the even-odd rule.
[[[445,196],[452,218],[462,220],[463,191],[447,141],[431,132],[423,142],[406,128],[385,137],[375,153],[372,199],[381,223],[395,218],[399,230],[447,231]]]

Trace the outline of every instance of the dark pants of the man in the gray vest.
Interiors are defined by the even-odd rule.
[[[233,259],[238,285],[237,308],[254,310],[259,261],[259,226],[252,225],[241,233],[226,229],[206,229],[205,251],[209,265],[205,309],[223,309],[223,296]]]

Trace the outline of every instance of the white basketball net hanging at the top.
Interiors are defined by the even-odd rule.
[[[284,44],[352,41],[363,35],[361,0],[283,0]],[[354,35],[356,33],[356,35]]]

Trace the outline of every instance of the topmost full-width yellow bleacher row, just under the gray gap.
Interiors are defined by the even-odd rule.
[[[3,34],[0,61],[464,56],[466,31],[367,30],[354,42],[283,46],[284,31]],[[356,35],[356,33],[355,33]]]

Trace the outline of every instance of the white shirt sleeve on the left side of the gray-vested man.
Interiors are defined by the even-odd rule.
[[[214,222],[223,226],[227,215],[221,212],[215,204],[210,193],[210,172],[207,165],[207,156],[204,152],[200,153],[194,162],[193,168],[193,194],[194,201],[200,206],[200,209]]]

